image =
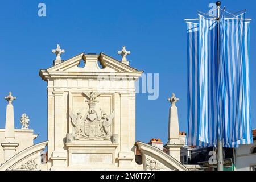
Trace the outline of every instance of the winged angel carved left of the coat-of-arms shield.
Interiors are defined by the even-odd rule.
[[[82,117],[81,112],[78,112],[76,115],[73,114],[71,110],[69,110],[69,117],[71,118],[71,122],[74,125],[75,135],[74,139],[78,140],[79,136],[85,136],[84,127],[85,127],[85,118]]]

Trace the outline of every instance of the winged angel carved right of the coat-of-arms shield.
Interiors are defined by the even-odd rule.
[[[109,140],[110,139],[110,126],[112,125],[112,120],[115,116],[115,110],[113,111],[112,114],[110,115],[107,115],[102,109],[101,109],[101,114],[102,114],[102,127],[103,127],[103,130],[104,130],[104,133],[105,133],[105,137],[104,137],[104,140]]]

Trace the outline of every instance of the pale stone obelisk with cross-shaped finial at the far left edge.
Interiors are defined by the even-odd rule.
[[[8,105],[6,106],[6,121],[5,121],[5,143],[1,143],[3,146],[3,150],[5,152],[5,161],[14,156],[16,147],[18,147],[18,143],[15,143],[15,133],[14,133],[14,108],[13,108],[13,100],[16,97],[11,95],[9,92],[9,96],[5,97]]]

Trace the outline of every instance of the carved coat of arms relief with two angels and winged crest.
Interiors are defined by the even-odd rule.
[[[84,109],[81,109],[78,113],[74,114],[69,109],[69,117],[73,125],[73,139],[74,140],[110,140],[112,136],[111,126],[114,118],[115,111],[110,115],[106,114],[104,110],[100,108],[100,113],[96,111],[96,104],[99,102],[96,100],[100,93],[90,92],[85,93],[89,105],[88,111],[83,113]]]

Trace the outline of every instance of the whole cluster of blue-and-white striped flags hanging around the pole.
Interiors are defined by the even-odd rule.
[[[249,22],[223,14],[219,46],[217,32],[217,21],[202,15],[187,22],[188,145],[216,146],[217,130],[226,147],[252,140]]]

